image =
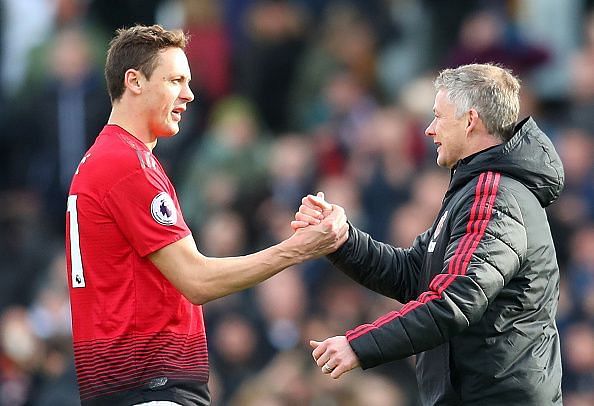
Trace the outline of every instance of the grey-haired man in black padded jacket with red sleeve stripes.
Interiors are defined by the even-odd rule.
[[[351,225],[329,259],[405,303],[345,336],[312,341],[338,378],[417,354],[424,405],[561,405],[555,313],[559,269],[545,207],[563,167],[531,118],[516,124],[520,85],[493,65],[446,69],[425,131],[452,178],[433,226],[403,249]],[[324,211],[303,200],[294,228]]]

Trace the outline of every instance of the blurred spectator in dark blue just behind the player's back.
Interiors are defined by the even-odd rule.
[[[57,32],[45,62],[49,71],[14,118],[19,123],[15,136],[30,151],[26,182],[42,198],[56,230],[63,230],[70,179],[110,108],[91,48],[87,33],[77,26]]]

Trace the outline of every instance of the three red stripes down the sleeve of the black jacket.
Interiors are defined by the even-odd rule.
[[[454,256],[450,259],[447,273],[435,275],[429,284],[429,290],[421,293],[417,300],[408,302],[400,311],[392,311],[379,317],[372,324],[363,324],[346,333],[349,341],[354,340],[363,334],[367,334],[378,327],[411,312],[417,307],[423,306],[428,302],[439,299],[448,286],[460,275],[465,275],[472,254],[478,247],[489,220],[491,219],[492,207],[497,196],[497,189],[501,174],[486,172],[481,173],[477,182],[474,202],[470,210],[468,223],[466,224],[466,233],[460,239]]]

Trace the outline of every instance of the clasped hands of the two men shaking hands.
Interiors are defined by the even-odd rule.
[[[349,236],[344,209],[324,200],[324,194],[307,195],[301,200],[295,220],[295,232],[287,242],[302,260],[314,259],[336,251]]]

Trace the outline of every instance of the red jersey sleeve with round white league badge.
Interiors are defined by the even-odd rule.
[[[190,234],[173,186],[155,171],[139,169],[126,176],[103,205],[142,257]]]

